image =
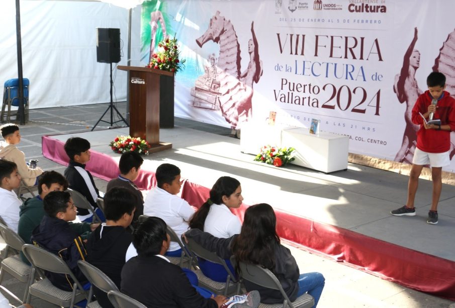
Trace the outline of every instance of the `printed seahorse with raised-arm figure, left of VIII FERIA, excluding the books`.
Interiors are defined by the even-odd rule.
[[[239,123],[251,117],[251,98],[253,82],[258,82],[262,75],[262,62],[259,60],[258,44],[251,23],[252,39],[248,42],[250,62],[245,72],[240,73],[240,46],[237,34],[229,20],[220,16],[220,12],[210,19],[207,31],[196,40],[199,47],[214,41],[220,45],[218,67],[220,80],[220,109],[223,117],[236,128]]]

